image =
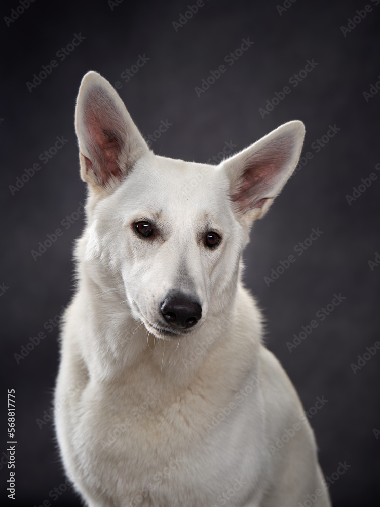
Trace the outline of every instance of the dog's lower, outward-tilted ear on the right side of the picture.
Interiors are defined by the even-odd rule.
[[[264,216],[295,169],[304,136],[303,123],[291,121],[220,164],[239,215],[249,220]]]

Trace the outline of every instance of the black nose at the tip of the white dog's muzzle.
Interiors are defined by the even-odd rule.
[[[191,328],[202,317],[202,307],[184,294],[168,296],[161,305],[161,313],[170,325]]]

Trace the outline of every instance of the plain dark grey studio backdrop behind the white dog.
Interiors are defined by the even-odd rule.
[[[298,0],[280,15],[275,1],[205,0],[204,6],[178,31],[172,22],[195,2],[128,2],[111,9],[102,2],[36,0],[7,27],[2,22],[3,92],[0,110],[3,151],[2,375],[0,405],[7,389],[16,390],[17,505],[79,505],[70,491],[58,500],[49,492],[64,475],[54,446],[51,422],[36,420],[51,409],[58,365],[57,328],[16,363],[29,337],[44,331],[72,295],[72,245],[83,227],[82,217],[39,258],[37,248],[85,199],[79,178],[73,128],[75,96],[82,76],[97,70],[120,95],[145,136],[161,120],[172,126],[154,145],[156,153],[205,162],[226,141],[240,150],[281,123],[306,124],[303,153],[312,160],[287,183],[283,193],[252,233],[245,251],[245,280],[267,318],[267,343],[281,360],[306,409],[317,397],[328,402],[311,419],[326,476],[339,462],[350,465],[331,486],[334,505],[374,505],[378,499],[380,429],[378,367],[380,352],[354,374],[351,364],[379,340],[380,266],[368,260],[380,252],[378,196],[380,178],[356,201],[346,195],[376,172],[380,162],[378,112],[380,93],[368,101],[371,83],[380,78],[378,21],[380,5],[351,32],[341,26],[363,10],[366,2]],[[2,18],[19,3],[3,3]],[[20,9],[21,10],[21,9]],[[75,33],[85,40],[64,61],[56,52]],[[200,97],[195,87],[243,38],[254,44]],[[139,55],[149,58],[125,83],[120,74]],[[58,67],[29,92],[34,73],[50,60]],[[295,88],[289,78],[314,59],[318,65]],[[284,86],[291,93],[265,115],[259,108]],[[380,84],[379,84],[380,86]],[[312,143],[329,125],[340,130],[319,153]],[[42,169],[12,195],[25,168],[53,146],[56,136],[68,142]],[[323,234],[268,287],[270,276],[312,228]],[[346,299],[290,353],[286,342],[331,303],[334,293]],[[46,332],[46,330],[45,330]],[[2,414],[0,453],[7,448],[6,410]],[[2,455],[3,456],[3,455]],[[5,460],[3,460],[5,461]],[[6,465],[1,464],[1,501],[7,500]],[[64,489],[62,487],[62,489]],[[12,504],[12,501],[9,500]]]

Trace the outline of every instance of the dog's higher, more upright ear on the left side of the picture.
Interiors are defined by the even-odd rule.
[[[97,72],[82,79],[75,108],[81,177],[114,189],[149,148],[116,90]]]

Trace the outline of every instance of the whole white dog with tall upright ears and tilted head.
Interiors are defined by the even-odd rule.
[[[160,157],[89,72],[75,127],[89,195],[55,392],[75,488],[91,507],[330,505],[241,282],[250,227],[294,170],[303,124],[218,166]]]

